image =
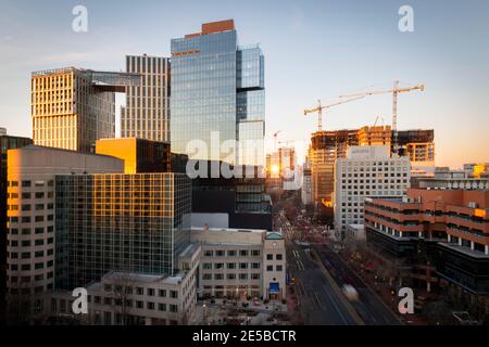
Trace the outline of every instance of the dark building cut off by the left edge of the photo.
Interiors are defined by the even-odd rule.
[[[7,129],[0,128],[0,314],[5,308],[7,283],[7,153],[33,143],[29,138],[7,136]]]

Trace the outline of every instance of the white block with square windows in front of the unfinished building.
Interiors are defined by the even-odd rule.
[[[349,224],[363,223],[365,197],[401,197],[410,188],[410,158],[389,152],[387,145],[351,146],[336,160],[335,229],[342,237]]]

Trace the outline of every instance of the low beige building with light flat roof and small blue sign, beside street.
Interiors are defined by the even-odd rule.
[[[202,247],[199,297],[286,297],[285,243],[278,233],[192,228],[191,242]]]

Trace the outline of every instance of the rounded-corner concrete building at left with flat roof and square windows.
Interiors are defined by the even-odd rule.
[[[28,145],[8,152],[7,288],[10,294],[52,290],[58,174],[122,172],[117,158]]]

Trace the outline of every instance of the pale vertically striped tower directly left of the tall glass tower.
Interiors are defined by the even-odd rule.
[[[170,59],[127,55],[126,72],[141,75],[141,85],[126,90],[121,137],[170,142]]]

